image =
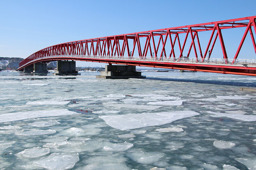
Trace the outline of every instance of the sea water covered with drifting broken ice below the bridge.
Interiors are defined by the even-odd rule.
[[[0,169],[256,169],[256,78],[0,72]]]

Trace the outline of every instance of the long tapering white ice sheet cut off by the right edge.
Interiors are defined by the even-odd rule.
[[[219,112],[211,112],[211,111],[208,111],[207,113],[210,113],[213,115],[225,116],[225,117],[246,121],[246,122],[256,121],[256,115],[239,115],[239,114],[219,113]]]

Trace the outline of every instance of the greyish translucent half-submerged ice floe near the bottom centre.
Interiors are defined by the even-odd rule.
[[[141,150],[133,150],[127,156],[140,164],[150,165],[164,157],[162,152],[143,152]]]

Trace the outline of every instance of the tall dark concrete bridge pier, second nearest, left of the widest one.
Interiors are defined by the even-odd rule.
[[[75,61],[57,61],[57,70],[53,75],[80,75],[76,71]]]

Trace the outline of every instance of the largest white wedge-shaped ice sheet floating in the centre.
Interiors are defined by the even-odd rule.
[[[146,126],[157,126],[173,121],[200,115],[194,111],[174,111],[174,112],[158,112],[158,113],[141,113],[141,114],[128,114],[128,115],[109,115],[99,116],[109,126],[120,129],[136,129]]]

